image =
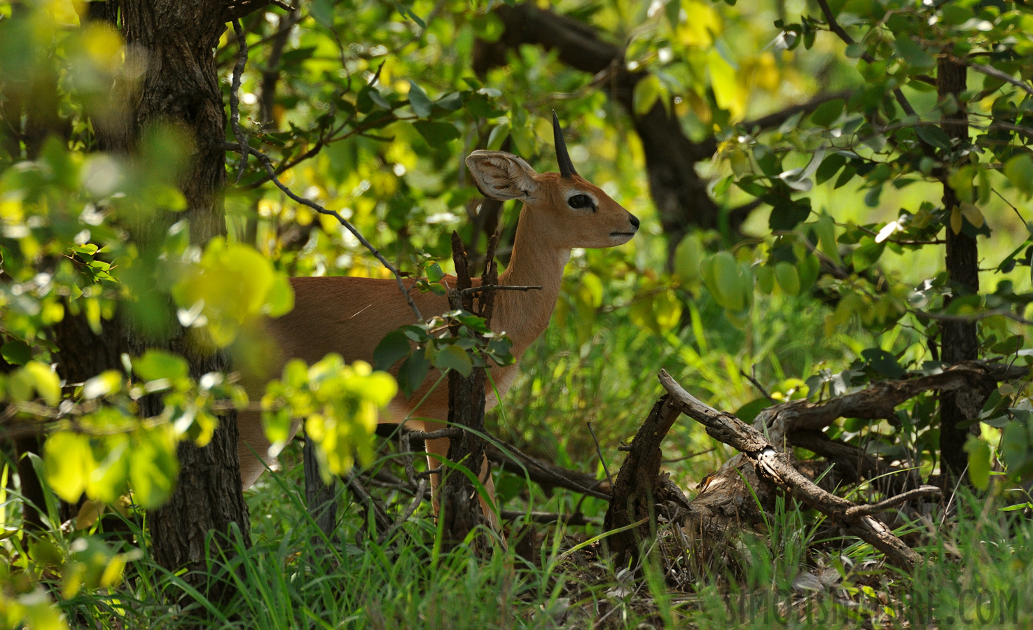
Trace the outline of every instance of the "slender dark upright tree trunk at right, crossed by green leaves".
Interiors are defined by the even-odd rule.
[[[956,97],[965,90],[966,68],[945,58],[939,61],[937,73],[937,91],[940,98]],[[944,117],[943,131],[951,138],[968,138],[968,115],[959,107],[956,114]],[[943,183],[943,207],[947,216],[959,208],[960,200],[954,191]],[[952,286],[951,297],[946,303],[960,295],[968,295],[979,290],[978,250],[975,238],[964,231],[954,233],[947,225],[947,275]],[[978,357],[979,340],[976,336],[975,321],[944,321],[940,324],[942,336],[942,358],[947,364],[971,360]],[[960,429],[959,422],[969,419],[974,403],[963,404],[963,392],[944,391],[940,395],[940,458],[941,471],[949,471],[952,475],[961,475],[965,470],[967,458],[965,442],[969,430]],[[979,405],[981,406],[981,405]],[[976,407],[978,409],[978,407]]]

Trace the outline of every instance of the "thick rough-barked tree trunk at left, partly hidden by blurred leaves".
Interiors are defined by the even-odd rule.
[[[127,49],[147,58],[147,74],[130,104],[127,118],[98,129],[101,146],[108,150],[131,150],[142,135],[167,125],[192,143],[180,189],[187,210],[173,215],[160,209],[155,217],[134,226],[142,251],[157,247],[173,220],[190,223],[191,243],[202,245],[225,233],[222,190],[225,186],[224,153],[218,146],[225,137],[225,114],[214,50],[225,29],[226,6],[202,0],[121,0],[122,34]],[[152,253],[153,255],[153,253]],[[174,319],[167,297],[152,296],[155,308],[164,309],[168,325],[163,334],[143,327],[131,317],[123,318],[126,346],[133,354],[148,348],[166,348],[182,354],[194,378],[229,369],[228,355],[212,353],[192,343]],[[149,301],[143,296],[142,301]],[[142,401],[144,417],[161,411],[161,401]],[[231,526],[250,544],[247,505],[241,492],[237,454],[236,413],[220,419],[212,441],[204,448],[190,441],[178,449],[181,473],[169,502],[150,515],[154,557],[169,570],[187,568],[188,584],[200,586],[206,559],[216,556],[208,545],[214,531],[218,542]],[[228,545],[219,545],[223,552]],[[219,599],[221,594],[214,594]]]

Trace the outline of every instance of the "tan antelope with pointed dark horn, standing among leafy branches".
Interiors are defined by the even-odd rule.
[[[524,351],[549,325],[570,250],[622,245],[638,229],[638,219],[576,174],[555,113],[553,122],[559,174],[539,175],[523,159],[503,152],[474,151],[466,159],[484,196],[524,202],[509,266],[499,276],[499,284],[541,286],[541,290],[535,291],[496,293],[492,329],[510,338],[516,363],[491,368],[487,409],[494,407],[497,400],[492,384],[500,396],[505,395],[516,376],[516,365]],[[444,282],[456,285],[455,277],[446,277]],[[330,352],[340,354],[347,363],[359,359],[373,363],[373,350],[387,333],[415,323],[415,315],[394,280],[294,278],[291,284],[293,311],[264,324],[280,350],[274,373],[279,373],[289,358],[301,358],[311,365]],[[445,295],[413,291],[411,296],[425,317],[450,310]],[[416,431],[442,429],[448,417],[447,385],[442,382],[428,395],[439,376],[432,370],[411,397],[397,396],[380,420],[405,422]],[[247,489],[274,458],[268,454],[270,443],[258,413],[242,412],[238,424],[241,478]],[[300,419],[292,427],[291,437],[299,426]],[[442,459],[447,455],[448,440],[428,440],[426,448],[430,467],[437,468],[440,463],[434,455]],[[487,462],[481,472],[484,471]],[[437,475],[432,475],[431,480],[436,496]],[[490,475],[486,486],[494,501]],[[489,522],[497,528],[494,510],[483,507]]]

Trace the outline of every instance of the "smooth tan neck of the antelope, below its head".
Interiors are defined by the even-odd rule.
[[[540,290],[499,291],[492,328],[506,333],[513,342],[518,359],[549,325],[563,282],[563,267],[570,248],[557,247],[541,238],[533,213],[525,206],[516,225],[509,266],[499,276],[499,284],[540,286]],[[550,226],[552,227],[552,226]]]

